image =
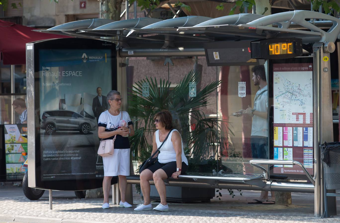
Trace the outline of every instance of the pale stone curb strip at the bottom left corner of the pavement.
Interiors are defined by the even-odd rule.
[[[38,216],[22,216],[22,215],[7,215],[0,214],[0,223],[2,222],[20,222],[20,223],[107,223],[107,221],[88,221],[77,219],[63,219],[63,218],[46,218]]]

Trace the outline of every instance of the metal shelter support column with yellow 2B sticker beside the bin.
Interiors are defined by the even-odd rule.
[[[330,88],[330,61],[329,53],[323,49],[324,43],[313,45],[313,83],[314,83],[314,215],[322,216],[324,205],[328,206],[329,214],[336,215],[336,200],[334,197],[328,198],[328,203],[324,204],[324,183],[323,166],[319,145],[326,142],[333,142],[332,126],[332,100]],[[329,191],[331,192],[331,191]]]

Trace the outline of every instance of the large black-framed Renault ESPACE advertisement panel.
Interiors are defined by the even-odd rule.
[[[116,88],[115,44],[72,38],[33,48],[36,185],[97,188],[104,176],[97,155],[98,117],[108,108],[106,94]]]

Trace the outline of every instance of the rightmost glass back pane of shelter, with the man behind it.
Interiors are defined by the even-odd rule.
[[[249,161],[269,157],[268,86],[264,66],[255,77],[252,68],[222,66],[219,71],[221,163],[229,173],[262,173]]]

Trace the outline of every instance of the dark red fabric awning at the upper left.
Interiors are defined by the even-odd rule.
[[[0,20],[0,59],[3,64],[26,64],[26,43],[54,38],[69,38],[63,35],[38,33],[33,27]]]

